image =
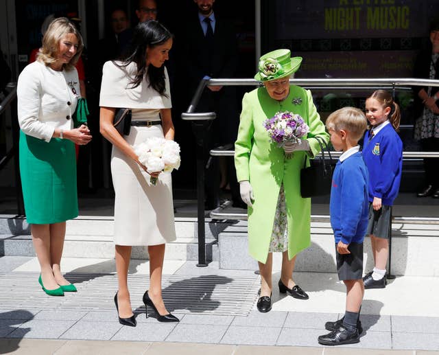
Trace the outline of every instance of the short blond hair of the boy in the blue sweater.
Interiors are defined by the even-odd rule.
[[[351,138],[359,141],[368,128],[366,115],[359,108],[343,107],[329,115],[326,122],[327,128],[332,128],[336,132],[346,130],[351,133]]]

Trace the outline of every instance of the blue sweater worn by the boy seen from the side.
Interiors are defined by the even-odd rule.
[[[338,161],[329,201],[335,243],[361,243],[368,227],[368,170],[360,152]]]

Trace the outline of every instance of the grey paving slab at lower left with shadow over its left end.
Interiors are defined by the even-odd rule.
[[[58,339],[75,321],[38,321],[32,319],[8,335],[10,338]]]

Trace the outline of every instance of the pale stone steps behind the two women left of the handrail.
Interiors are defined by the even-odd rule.
[[[64,257],[114,257],[114,220],[106,216],[80,216],[67,221]],[[218,260],[217,237],[230,222],[206,222],[206,259]],[[177,240],[167,244],[167,260],[198,260],[196,218],[176,218]],[[0,216],[0,255],[34,256],[30,228],[23,218]],[[146,247],[133,247],[132,259],[147,259]]]

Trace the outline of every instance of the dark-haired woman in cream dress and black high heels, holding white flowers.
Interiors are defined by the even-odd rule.
[[[133,146],[148,137],[174,139],[171,96],[165,60],[172,35],[157,21],[139,23],[130,49],[120,61],[106,62],[100,95],[100,130],[112,144],[111,173],[115,187],[115,249],[119,289],[115,304],[119,322],[135,326],[127,277],[133,245],[147,245],[150,255],[150,289],[145,307],[156,311],[158,321],[178,321],[163,303],[161,276],[165,243],[176,239],[171,176],[149,173]],[[116,108],[131,108],[129,135],[112,126]],[[158,176],[158,183],[150,183]]]

